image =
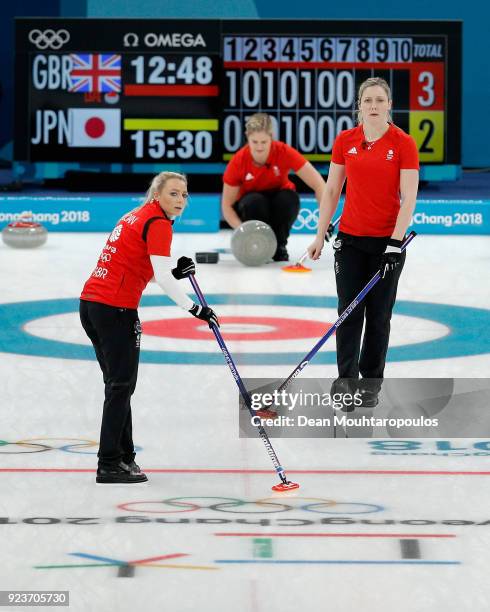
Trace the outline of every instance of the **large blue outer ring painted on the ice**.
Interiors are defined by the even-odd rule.
[[[263,294],[213,294],[206,296],[212,306],[293,306],[308,309],[337,308],[337,298],[316,295],[263,295]],[[31,302],[0,304],[0,352],[53,357],[58,359],[95,359],[91,346],[63,342],[61,339],[39,338],[25,331],[24,326],[35,319],[78,312],[78,299],[63,298]],[[165,295],[147,295],[141,300],[145,306],[173,306]],[[468,357],[490,352],[490,310],[430,302],[398,300],[394,313],[422,318],[445,325],[449,332],[435,340],[418,342],[389,349],[389,361],[418,361]],[[163,313],[162,313],[163,314]],[[327,328],[325,329],[327,331]],[[335,364],[334,341],[330,350],[323,348],[314,357],[314,365]],[[313,342],[305,341],[304,352],[292,353],[237,353],[233,358],[237,365],[291,365],[301,362]],[[327,344],[328,347],[328,344]],[[216,345],[216,352],[141,351],[142,363],[223,365],[223,355]]]

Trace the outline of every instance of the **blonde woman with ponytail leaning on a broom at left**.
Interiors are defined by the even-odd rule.
[[[80,296],[80,319],[105,384],[99,484],[148,480],[135,463],[131,416],[141,340],[137,309],[148,282],[154,278],[178,306],[218,325],[213,310],[192,302],[177,282],[194,274],[192,259],[180,257],[175,265],[170,257],[173,219],[184,212],[187,198],[184,175],[155,176],[145,203],[126,213],[107,238]]]

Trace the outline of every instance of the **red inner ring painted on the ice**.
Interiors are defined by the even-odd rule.
[[[326,321],[286,319],[283,317],[220,317],[220,324],[220,331],[225,340],[320,338],[331,325]],[[243,330],[227,331],[227,327],[230,326],[240,326],[243,327]],[[256,327],[255,330],[254,327]],[[270,330],[264,330],[264,327],[269,327]],[[210,340],[214,338],[212,331],[207,328],[207,324],[196,318],[145,321],[143,323],[143,333],[149,336],[188,340]]]

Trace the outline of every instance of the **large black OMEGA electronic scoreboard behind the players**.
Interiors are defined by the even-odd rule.
[[[459,165],[461,22],[17,19],[14,159],[214,172],[267,112],[321,164],[371,76],[421,162]]]

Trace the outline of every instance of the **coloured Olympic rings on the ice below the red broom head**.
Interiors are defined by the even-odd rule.
[[[209,503],[209,500],[219,501]],[[204,503],[202,503],[203,501]],[[177,514],[196,512],[197,510],[212,510],[228,514],[278,514],[291,510],[303,510],[316,514],[345,515],[371,514],[384,510],[384,507],[378,504],[339,502],[317,497],[295,497],[288,504],[279,503],[277,497],[267,497],[255,501],[234,497],[171,497],[160,501],[127,502],[119,504],[117,508],[126,512],[141,512],[144,514]]]

